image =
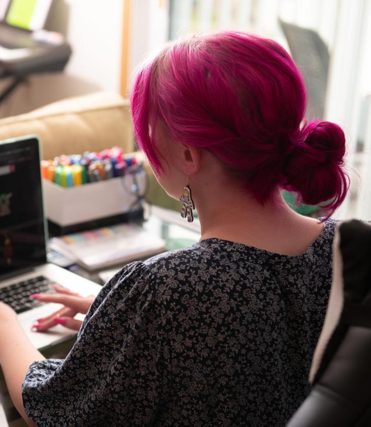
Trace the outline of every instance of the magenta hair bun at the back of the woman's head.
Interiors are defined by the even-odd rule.
[[[284,167],[284,188],[300,201],[335,208],[344,200],[349,177],[343,170],[346,151],[343,130],[330,121],[313,121],[301,129]]]

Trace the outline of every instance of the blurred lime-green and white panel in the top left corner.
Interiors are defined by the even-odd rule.
[[[0,19],[9,25],[29,29],[44,28],[52,0],[0,0]]]

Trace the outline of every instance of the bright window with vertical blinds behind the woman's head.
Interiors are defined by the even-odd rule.
[[[307,85],[307,115],[334,121],[346,133],[353,184],[335,217],[371,219],[371,2],[148,0],[146,3],[152,5],[152,15],[148,15],[152,25],[148,25],[145,36],[144,25],[140,26],[140,37],[147,38],[140,56],[152,49],[153,40],[158,46],[167,39],[213,29],[256,33],[276,40],[291,51]],[[159,10],[167,11],[167,20]],[[134,61],[134,66],[137,63],[138,60]]]

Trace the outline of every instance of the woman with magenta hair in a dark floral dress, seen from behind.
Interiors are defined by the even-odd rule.
[[[201,239],[122,268],[65,360],[41,360],[16,341],[15,316],[1,306],[0,362],[13,400],[45,426],[284,426],[310,390],[335,221],[296,214],[281,190],[336,209],[348,190],[344,133],[302,123],[305,90],[292,59],[244,33],[168,44],[140,68],[131,104],[139,146],[165,191],[181,198],[182,216],[192,220],[196,206]],[[66,304],[39,319],[39,331],[76,326],[74,314],[91,302],[36,297]],[[12,346],[24,348],[16,369]]]

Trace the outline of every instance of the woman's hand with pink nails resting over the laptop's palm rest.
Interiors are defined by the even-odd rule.
[[[74,317],[77,313],[86,314],[95,296],[89,295],[83,297],[60,286],[53,286],[53,288],[56,290],[56,294],[33,294],[30,297],[36,298],[38,301],[63,304],[64,307],[50,316],[37,319],[32,329],[41,332],[60,324],[69,329],[79,330],[82,322],[81,320],[74,319]]]

